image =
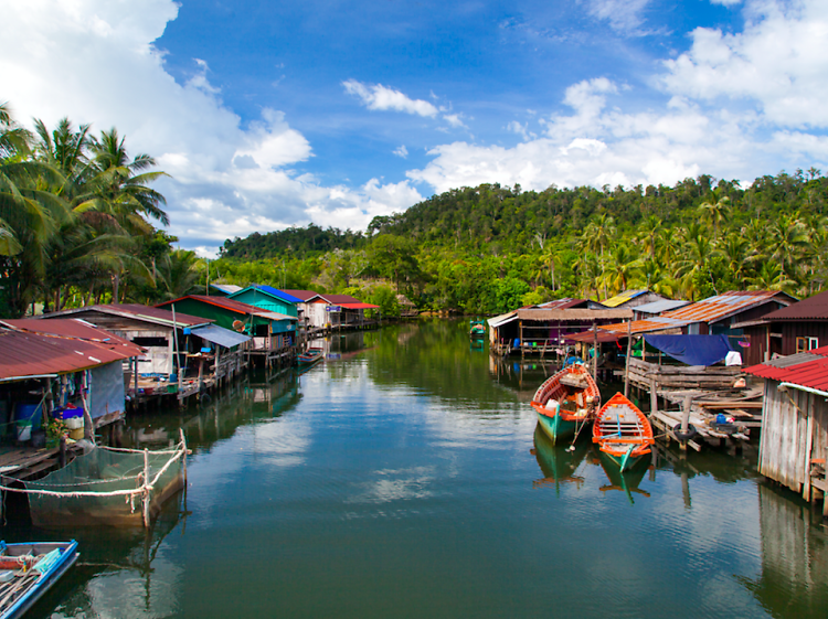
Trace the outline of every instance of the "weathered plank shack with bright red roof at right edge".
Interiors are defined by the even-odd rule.
[[[773,359],[745,372],[764,378],[758,472],[806,501],[821,499],[828,517],[828,346]]]

